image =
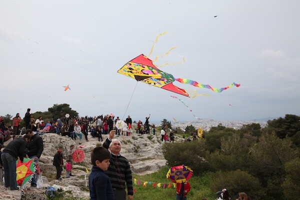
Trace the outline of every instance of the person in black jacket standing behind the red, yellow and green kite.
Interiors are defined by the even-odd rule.
[[[25,134],[30,136],[25,153],[29,158],[33,158],[35,165],[37,165],[38,159],[43,151],[43,140],[39,134],[34,133],[31,129],[26,129]],[[36,187],[36,174],[32,176],[31,187]]]

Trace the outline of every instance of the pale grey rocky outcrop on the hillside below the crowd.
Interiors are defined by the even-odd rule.
[[[64,156],[66,150],[71,144],[79,146],[79,140],[72,140],[67,136],[60,136],[55,133],[46,133],[41,135],[44,141],[44,150],[39,159],[39,166],[42,170],[42,185],[40,188],[32,188],[26,184],[20,190],[10,191],[0,183],[0,199],[46,199],[45,190],[50,185],[58,185],[62,189],[63,196],[69,196],[73,199],[89,199],[87,186],[88,173],[90,170],[90,152],[99,142],[97,138],[88,135],[89,141],[82,140],[81,149],[84,151],[85,158],[81,163],[73,163],[72,174],[65,178],[65,170],[62,171],[62,180],[56,180],[56,169],[52,165],[53,156],[58,146],[63,146]],[[107,135],[102,135],[103,140]],[[130,163],[133,173],[142,175],[155,172],[166,164],[161,150],[160,135],[136,134],[130,136],[116,135],[115,138],[121,142],[121,155],[126,157]],[[9,142],[9,141],[8,141]],[[65,158],[65,157],[64,157]],[[65,163],[64,159],[64,163]]]

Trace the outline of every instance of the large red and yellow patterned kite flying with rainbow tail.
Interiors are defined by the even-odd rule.
[[[166,73],[159,70],[150,60],[143,54],[138,55],[124,66],[122,66],[118,71],[123,75],[134,78],[137,81],[142,81],[144,83],[160,87],[184,96],[188,96],[188,93],[175,85],[172,84],[173,81],[178,81],[184,84],[190,84],[199,88],[208,88],[215,92],[221,92],[225,89],[232,87],[233,85],[238,87],[239,84],[231,83],[230,85],[222,88],[213,88],[208,84],[201,84],[194,80],[189,80],[185,78],[174,78],[172,74]]]

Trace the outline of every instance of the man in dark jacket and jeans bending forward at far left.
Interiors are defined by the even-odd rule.
[[[23,162],[26,143],[29,139],[29,135],[13,139],[1,153],[4,168],[4,184],[5,187],[10,187],[10,190],[18,189],[16,184],[16,159],[19,157],[21,162]]]

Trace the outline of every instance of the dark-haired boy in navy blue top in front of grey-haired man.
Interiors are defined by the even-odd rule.
[[[113,190],[109,177],[104,173],[109,166],[110,152],[102,147],[95,147],[90,153],[92,163],[88,176],[89,197],[91,200],[113,200]]]

